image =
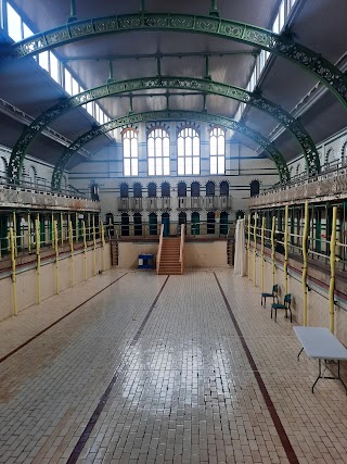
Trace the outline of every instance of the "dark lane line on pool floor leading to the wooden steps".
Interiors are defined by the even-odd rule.
[[[93,428],[94,428],[94,426],[95,426],[95,424],[97,424],[97,422],[98,422],[98,419],[99,419],[99,417],[100,417],[103,409],[105,407],[105,404],[106,404],[106,401],[107,401],[107,399],[110,397],[110,393],[111,393],[114,385],[118,380],[120,372],[125,367],[123,365],[123,361],[128,355],[129,350],[137,343],[137,341],[139,341],[141,333],[142,333],[145,324],[147,323],[147,321],[149,321],[149,318],[150,318],[150,316],[151,316],[151,314],[152,314],[152,312],[153,312],[153,310],[154,310],[154,308],[156,305],[156,302],[158,301],[158,299],[159,299],[159,297],[160,297],[160,294],[162,294],[162,292],[164,290],[164,287],[166,286],[168,279],[169,279],[169,276],[166,277],[164,284],[162,285],[162,288],[160,288],[159,292],[157,293],[157,296],[155,297],[155,300],[151,304],[151,308],[150,308],[147,314],[145,315],[145,317],[144,317],[141,326],[139,327],[138,331],[136,333],[136,335],[134,335],[131,343],[126,349],[125,354],[123,356],[123,360],[119,362],[118,367],[116,368],[116,371],[115,371],[115,373],[114,373],[114,375],[113,375],[113,377],[112,377],[112,379],[111,379],[111,381],[110,381],[106,390],[104,391],[103,396],[101,397],[101,399],[99,401],[99,404],[98,404],[97,409],[94,410],[94,412],[92,413],[92,415],[91,415],[91,417],[90,417],[90,419],[89,419],[89,422],[88,422],[85,430],[82,431],[81,436],[79,437],[79,439],[78,439],[78,441],[77,441],[77,443],[76,443],[76,446],[75,446],[72,454],[69,455],[66,464],[76,464],[76,462],[78,461],[79,455],[82,452],[82,449],[83,449],[87,440],[89,439],[89,437],[90,437],[90,435],[91,435],[91,432],[92,432],[92,430],[93,430]]]

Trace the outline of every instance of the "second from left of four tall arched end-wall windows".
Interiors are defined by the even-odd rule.
[[[170,175],[170,140],[166,130],[157,128],[147,137],[149,175]]]

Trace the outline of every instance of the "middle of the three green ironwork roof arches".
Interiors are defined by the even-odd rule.
[[[296,137],[306,158],[308,172],[310,174],[320,172],[319,154],[309,134],[295,117],[270,100],[260,97],[258,93],[248,92],[247,90],[244,90],[240,87],[217,83],[210,79],[198,79],[194,77],[180,76],[154,76],[123,81],[110,80],[107,85],[86,90],[44,111],[28,127],[24,129],[23,134],[15,143],[9,163],[10,177],[16,178],[16,180],[20,181],[20,176],[22,173],[21,165],[23,164],[29,146],[44,129],[44,127],[52,123],[56,117],[63,115],[76,106],[80,106],[89,101],[98,100],[100,98],[123,92],[157,88],[196,90],[205,93],[219,95],[252,104],[258,110],[267,112],[269,115],[277,118],[285,128],[291,130]]]

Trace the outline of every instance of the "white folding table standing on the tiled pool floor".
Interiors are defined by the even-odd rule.
[[[312,385],[312,393],[314,393],[313,390],[314,390],[316,384],[320,378],[330,378],[330,379],[340,380],[347,393],[347,387],[344,380],[340,378],[340,374],[339,374],[339,363],[340,361],[347,360],[347,349],[337,340],[337,338],[327,328],[324,328],[324,327],[294,327],[294,331],[299,342],[303,346],[299,354],[297,355],[297,360],[299,361],[299,356],[303,350],[305,350],[306,354],[309,358],[313,360],[319,360],[319,374],[314,384]],[[334,377],[324,376],[325,368],[322,373],[322,367],[321,367],[322,360],[324,360],[325,368],[326,368],[327,361],[331,361],[331,360],[337,361],[337,376],[334,376]]]

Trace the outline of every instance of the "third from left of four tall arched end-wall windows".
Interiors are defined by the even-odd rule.
[[[200,137],[195,129],[185,127],[177,138],[178,175],[200,174]]]

